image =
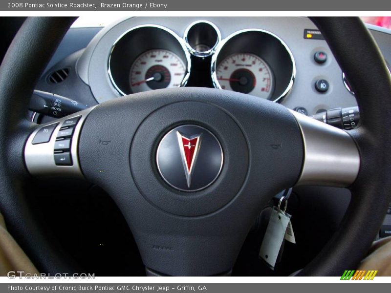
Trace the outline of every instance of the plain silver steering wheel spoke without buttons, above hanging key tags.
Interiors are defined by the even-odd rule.
[[[290,110],[303,137],[304,161],[296,186],[348,187],[357,178],[360,154],[347,131]]]

